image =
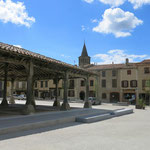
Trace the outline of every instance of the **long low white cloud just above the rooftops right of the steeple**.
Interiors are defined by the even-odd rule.
[[[142,59],[147,59],[148,55],[130,55],[124,50],[115,49],[109,50],[106,54],[96,54],[93,56],[94,59],[100,60],[98,64],[115,64],[125,63],[125,59],[128,58],[130,62],[140,61]]]

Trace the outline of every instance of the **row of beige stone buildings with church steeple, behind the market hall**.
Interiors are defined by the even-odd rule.
[[[150,80],[150,59],[138,63],[130,63],[128,59],[122,64],[94,65],[90,63],[87,48],[84,43],[79,67],[99,74],[99,78],[89,78],[89,97],[98,97],[102,102],[127,102],[131,98],[144,98],[149,104],[150,96],[146,83]],[[11,86],[11,83],[8,84]],[[58,82],[58,99],[63,99],[63,81]],[[9,88],[10,89],[10,88]],[[37,80],[34,85],[36,98],[53,99],[56,95],[55,80]],[[10,90],[9,90],[10,91]],[[96,95],[98,91],[98,94]],[[26,93],[26,82],[15,82],[15,94]],[[10,92],[7,93],[9,95]],[[0,82],[2,96],[2,82]],[[84,78],[69,79],[68,99],[85,100],[86,85]]]

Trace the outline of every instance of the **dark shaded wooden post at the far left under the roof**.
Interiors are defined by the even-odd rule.
[[[3,100],[1,106],[8,106],[7,102],[7,75],[8,75],[8,63],[4,66],[4,90],[3,90]]]

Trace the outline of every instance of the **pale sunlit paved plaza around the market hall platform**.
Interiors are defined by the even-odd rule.
[[[41,104],[41,101],[37,102]],[[51,104],[45,101],[43,104]],[[71,103],[82,107],[82,103]],[[124,108],[103,104],[101,109]],[[133,108],[133,106],[128,106]],[[67,123],[0,137],[2,150],[149,150],[150,108],[91,124]]]

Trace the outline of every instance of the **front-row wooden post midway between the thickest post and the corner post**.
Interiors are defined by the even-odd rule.
[[[69,110],[70,105],[68,103],[68,79],[69,79],[69,74],[66,71],[64,74],[64,100],[61,106],[61,110]]]

